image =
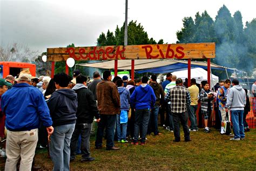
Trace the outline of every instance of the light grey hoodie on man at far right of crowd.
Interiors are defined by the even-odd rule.
[[[244,110],[246,104],[245,90],[240,85],[234,85],[227,94],[226,107],[231,111]]]

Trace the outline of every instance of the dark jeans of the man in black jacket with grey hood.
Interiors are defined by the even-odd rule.
[[[82,158],[90,157],[90,134],[91,124],[76,124],[70,143],[70,160],[76,158],[78,140],[80,137]],[[80,147],[80,146],[79,146]]]

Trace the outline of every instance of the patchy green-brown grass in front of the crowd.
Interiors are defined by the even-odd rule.
[[[119,151],[94,149],[91,141],[91,156],[95,161],[82,163],[81,155],[70,164],[71,170],[256,170],[256,130],[246,133],[243,141],[230,141],[219,132],[191,132],[190,142],[173,142],[173,133],[160,128],[160,136],[147,136],[145,146],[118,143]],[[183,137],[181,131],[181,138]],[[105,141],[104,141],[105,142]],[[105,145],[105,144],[104,144]],[[45,151],[36,154],[36,165],[52,169],[51,160]]]

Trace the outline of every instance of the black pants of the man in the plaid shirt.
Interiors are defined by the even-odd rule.
[[[176,141],[180,141],[180,129],[179,129],[179,122],[183,126],[184,131],[184,138],[185,140],[190,139],[190,130],[187,126],[187,112],[183,113],[172,113],[173,114],[173,125],[174,125],[174,137]]]

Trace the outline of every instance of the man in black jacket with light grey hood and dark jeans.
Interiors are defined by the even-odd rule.
[[[93,161],[95,160],[90,156],[90,133],[91,123],[93,117],[96,117],[99,122],[99,113],[96,105],[96,100],[93,93],[86,87],[87,78],[83,75],[79,75],[76,78],[76,85],[73,90],[77,93],[78,107],[77,107],[77,122],[75,130],[72,134],[70,143],[70,161],[75,160],[77,140],[79,134],[81,134],[81,161]]]

